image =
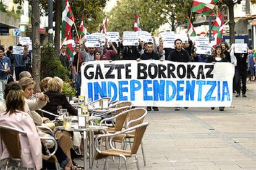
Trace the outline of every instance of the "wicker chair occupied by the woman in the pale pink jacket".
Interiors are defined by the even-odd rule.
[[[25,131],[21,129],[17,129],[14,127],[9,127],[9,126],[0,126],[0,136],[1,140],[4,142],[6,145],[7,151],[10,155],[10,158],[8,158],[7,163],[6,163],[6,169],[8,169],[9,166],[15,167],[15,169],[19,169],[22,166],[22,159],[20,156],[20,138],[19,134],[26,134]],[[54,140],[51,137],[40,137],[41,140],[53,140],[55,144],[55,148],[53,153],[47,152],[47,155],[43,155],[43,158],[48,158],[48,160],[53,160],[56,166],[56,169],[59,168],[59,163],[54,156],[54,153],[56,153],[58,144],[56,140]],[[15,163],[17,165],[9,165],[9,163]]]

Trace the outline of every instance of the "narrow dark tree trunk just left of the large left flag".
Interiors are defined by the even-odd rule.
[[[61,9],[62,9],[62,2],[61,0],[55,1],[56,12],[55,14],[55,36],[54,36],[54,46],[56,51],[56,56],[59,56],[59,44],[60,44],[60,37],[59,33],[61,31]]]

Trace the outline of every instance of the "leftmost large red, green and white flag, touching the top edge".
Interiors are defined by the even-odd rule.
[[[68,35],[75,22],[75,17],[69,6],[69,0],[62,0],[62,23],[61,23],[61,40],[63,41]]]

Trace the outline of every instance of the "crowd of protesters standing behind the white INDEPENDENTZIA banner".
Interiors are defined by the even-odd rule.
[[[100,41],[100,40],[99,40]],[[85,40],[86,42],[86,40]],[[101,47],[86,47],[85,42],[75,46],[74,58],[66,55],[66,46],[62,46],[60,60],[64,67],[72,70],[73,80],[76,82],[78,94],[81,86],[80,66],[83,62],[93,60],[169,60],[173,62],[230,62],[235,65],[233,79],[233,92],[236,97],[246,97],[246,81],[248,70],[250,70],[249,80],[255,81],[256,52],[250,50],[247,53],[235,53],[234,44],[229,47],[226,42],[211,48],[211,55],[197,54],[195,43],[189,39],[189,43],[182,43],[181,39],[174,41],[175,49],[164,48],[163,39],[159,39],[159,44],[153,42],[143,42],[139,39],[139,46],[124,46],[121,42],[111,42],[105,39],[105,45]],[[77,66],[79,66],[77,70]],[[242,82],[242,87],[241,87]],[[242,92],[241,92],[242,91]],[[152,107],[158,111],[158,107]],[[151,107],[147,107],[151,111]],[[180,110],[180,108],[175,108]],[[223,107],[220,110],[224,110]]]

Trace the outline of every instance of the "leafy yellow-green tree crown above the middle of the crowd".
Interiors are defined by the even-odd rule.
[[[116,6],[107,14],[108,31],[133,31],[135,20],[135,9],[139,13],[142,30],[153,32],[160,25],[166,23],[166,18],[161,17],[161,11],[155,10],[158,4],[153,0],[123,0],[117,1]]]

